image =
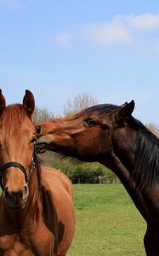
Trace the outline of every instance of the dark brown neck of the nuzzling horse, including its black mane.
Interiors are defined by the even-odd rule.
[[[135,137],[133,134],[126,135],[127,139],[119,136],[124,147],[119,143],[120,147],[115,147],[109,161],[103,164],[116,173],[139,212],[148,220],[151,201],[159,200],[156,192],[159,189],[159,140],[144,125],[133,131]]]

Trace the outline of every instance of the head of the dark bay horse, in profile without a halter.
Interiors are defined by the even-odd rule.
[[[123,129],[128,127],[127,119],[133,108],[133,101],[122,106],[102,104],[37,124],[37,148],[41,152],[48,149],[82,160],[104,160],[113,150],[119,132],[123,134]]]

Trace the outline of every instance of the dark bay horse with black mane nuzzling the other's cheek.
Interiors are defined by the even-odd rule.
[[[120,178],[145,218],[148,256],[159,255],[159,139],[132,116],[134,102],[100,104],[37,124],[38,148],[98,161]]]

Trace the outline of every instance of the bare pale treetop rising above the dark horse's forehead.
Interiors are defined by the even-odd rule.
[[[64,107],[64,115],[68,116],[73,113],[77,113],[84,108],[91,107],[98,104],[93,96],[88,95],[87,93],[80,93],[73,100],[68,99]]]

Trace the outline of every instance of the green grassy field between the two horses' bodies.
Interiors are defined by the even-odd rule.
[[[68,256],[145,255],[145,221],[122,184],[74,189],[77,227]]]

